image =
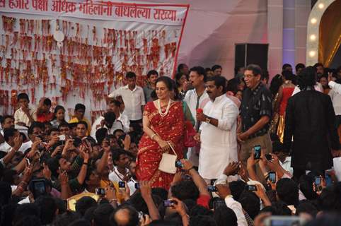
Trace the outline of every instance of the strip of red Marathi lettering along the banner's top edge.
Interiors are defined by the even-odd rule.
[[[182,25],[187,5],[127,4],[112,1],[0,0],[0,11],[47,16],[71,16],[98,20],[124,20],[165,25]],[[62,14],[62,15],[61,15]]]

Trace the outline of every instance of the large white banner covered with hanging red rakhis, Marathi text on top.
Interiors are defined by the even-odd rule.
[[[28,93],[33,105],[50,97],[69,115],[81,102],[95,119],[127,71],[141,86],[152,69],[173,76],[188,7],[0,0],[0,114],[13,114],[16,95]]]

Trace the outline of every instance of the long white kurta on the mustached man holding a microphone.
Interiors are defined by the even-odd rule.
[[[218,127],[201,125],[199,174],[204,179],[217,179],[229,162],[237,161],[238,107],[226,95],[216,97],[204,107],[204,114],[218,119]]]

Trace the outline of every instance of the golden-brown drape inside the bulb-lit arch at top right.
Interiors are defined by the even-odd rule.
[[[318,62],[328,67],[341,43],[341,0],[336,0],[326,9],[320,21]]]

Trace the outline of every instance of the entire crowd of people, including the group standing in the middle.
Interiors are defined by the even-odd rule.
[[[0,225],[341,225],[341,67],[134,72],[95,121],[43,97],[1,116]]]

